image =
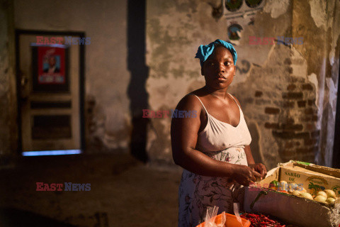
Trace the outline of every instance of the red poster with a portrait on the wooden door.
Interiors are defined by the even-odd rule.
[[[33,46],[33,92],[69,92],[68,48]]]

